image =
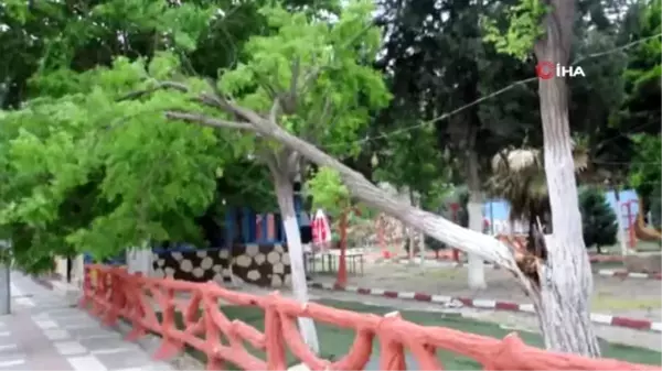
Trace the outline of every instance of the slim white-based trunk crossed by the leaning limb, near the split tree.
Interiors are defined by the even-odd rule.
[[[467,211],[469,212],[469,229],[482,233],[482,193],[480,175],[478,173],[478,155],[476,151],[467,151],[467,185],[469,188],[469,203]],[[485,264],[481,257],[469,254],[468,284],[472,290],[484,290],[488,287],[485,283]]]

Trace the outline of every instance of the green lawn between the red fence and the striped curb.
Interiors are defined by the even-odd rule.
[[[319,303],[333,306],[337,308],[343,308],[354,312],[365,312],[374,314],[386,314],[395,309],[381,306],[364,305],[352,302],[340,302],[340,301],[319,301]],[[264,313],[259,308],[255,307],[239,307],[239,306],[224,306],[223,312],[228,319],[238,319],[246,324],[254,326],[259,330],[264,330]],[[495,324],[488,324],[476,321],[471,319],[465,319],[459,315],[444,315],[440,313],[428,313],[428,312],[413,312],[413,310],[401,310],[403,317],[416,324],[427,326],[444,326],[462,330],[466,332],[473,332],[480,335],[487,335],[495,338],[503,338],[510,330],[500,328]],[[354,331],[337,328],[325,324],[318,324],[318,336],[320,337],[321,354],[325,358],[338,359],[344,356],[353,339]],[[532,346],[541,346],[542,340],[540,336],[532,332],[520,332],[522,339]],[[247,346],[249,348],[249,346]],[[601,341],[602,354],[609,358],[616,358],[626,360],[629,362],[649,363],[649,364],[662,364],[662,352],[655,352],[647,349],[634,348],[623,345],[608,343]],[[255,349],[250,350],[254,354],[264,359],[264,352]],[[377,342],[375,341],[373,354],[378,353]],[[205,361],[205,356],[191,350],[191,354],[201,361]],[[441,359],[446,371],[480,371],[482,368],[471,359],[457,356],[447,351],[439,351],[439,358]],[[289,356],[289,354],[288,354]],[[289,357],[290,362],[297,363],[297,361]],[[231,370],[238,370],[236,368],[229,368]]]

